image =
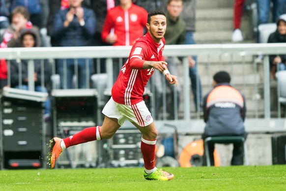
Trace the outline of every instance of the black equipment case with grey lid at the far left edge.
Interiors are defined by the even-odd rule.
[[[47,93],[5,87],[1,97],[1,166],[39,168],[46,163],[43,102]]]

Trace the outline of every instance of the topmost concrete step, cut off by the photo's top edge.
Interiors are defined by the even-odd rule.
[[[234,0],[197,0],[197,9],[233,7]]]

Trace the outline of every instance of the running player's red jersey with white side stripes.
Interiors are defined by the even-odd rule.
[[[162,56],[165,38],[156,43],[147,32],[136,40],[126,63],[114,83],[111,95],[115,102],[133,105],[143,100],[144,88],[154,68],[143,69],[144,61],[165,61]]]

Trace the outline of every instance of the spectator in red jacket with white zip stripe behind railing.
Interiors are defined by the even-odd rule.
[[[103,41],[113,46],[133,45],[146,29],[147,15],[147,11],[133,4],[132,0],[120,0],[119,5],[107,13],[102,29]],[[115,82],[121,67],[118,59],[113,62]]]

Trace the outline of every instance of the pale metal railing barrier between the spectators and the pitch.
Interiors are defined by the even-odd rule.
[[[31,91],[34,90],[34,83],[30,83],[32,81],[30,79],[33,79],[34,73],[33,59],[49,59],[52,61],[53,75],[56,74],[56,64],[54,62],[56,59],[92,59],[93,69],[97,71],[93,72],[95,75],[99,74],[100,70],[102,70],[100,59],[106,59],[106,64],[104,66],[106,66],[107,76],[104,79],[107,79],[107,82],[105,84],[106,86],[103,87],[105,93],[107,92],[106,94],[108,94],[115,80],[113,74],[114,71],[116,71],[114,70],[114,58],[119,58],[119,65],[124,64],[130,49],[131,47],[129,46],[6,48],[0,49],[0,58],[4,58],[8,61],[8,68],[9,60],[30,60],[28,64],[28,85],[29,90]],[[160,124],[166,123],[166,120],[170,119],[170,117],[173,119],[172,123],[179,124],[178,122],[184,122],[186,126],[188,126],[187,131],[189,131],[197,122],[199,122],[200,126],[203,126],[200,109],[198,111],[194,110],[190,89],[188,56],[196,55],[198,57],[197,67],[202,82],[203,95],[206,91],[211,89],[212,75],[219,69],[225,69],[229,71],[232,76],[232,85],[235,88],[238,88],[242,93],[248,95],[247,102],[249,102],[249,105],[247,106],[251,113],[247,118],[250,119],[250,124],[255,124],[257,119],[266,120],[269,122],[268,124],[270,124],[271,119],[280,119],[282,112],[278,102],[276,103],[279,108],[276,111],[273,111],[273,108],[271,107],[272,98],[270,96],[270,89],[275,90],[275,86],[272,87],[273,83],[270,80],[268,55],[285,54],[285,50],[285,43],[166,45],[164,56],[182,58],[181,62],[178,62],[181,64],[176,65],[181,91],[179,94],[177,91],[173,91],[172,101],[171,103],[168,103],[167,99],[170,95],[166,94],[166,83],[163,83],[163,94],[160,98],[160,101],[163,100],[162,111],[157,111],[158,108],[155,107],[155,104],[156,101],[158,101],[156,99],[158,94],[155,90],[153,75],[150,84],[147,85],[147,89],[150,91],[151,113],[152,115],[155,115],[159,112],[159,116],[156,118]],[[254,62],[254,58],[256,58],[257,55],[264,55],[262,64]],[[89,69],[92,70],[92,68]],[[75,73],[76,75],[79,75],[77,72]],[[197,77],[199,78],[199,76]],[[10,83],[9,78],[10,74],[8,72],[8,84]],[[76,81],[77,78],[74,80]],[[89,80],[86,80],[86,83],[87,87],[94,87],[89,84]],[[98,83],[102,84],[102,81],[98,81]],[[102,87],[102,85],[99,86]],[[101,90],[99,94],[103,94],[104,91]],[[174,112],[168,110],[170,104],[174,104],[172,107]],[[171,116],[171,114],[166,115],[168,112],[173,113],[173,116]],[[286,125],[283,125],[282,127],[284,129],[286,128]],[[201,131],[201,129],[199,131]]]

